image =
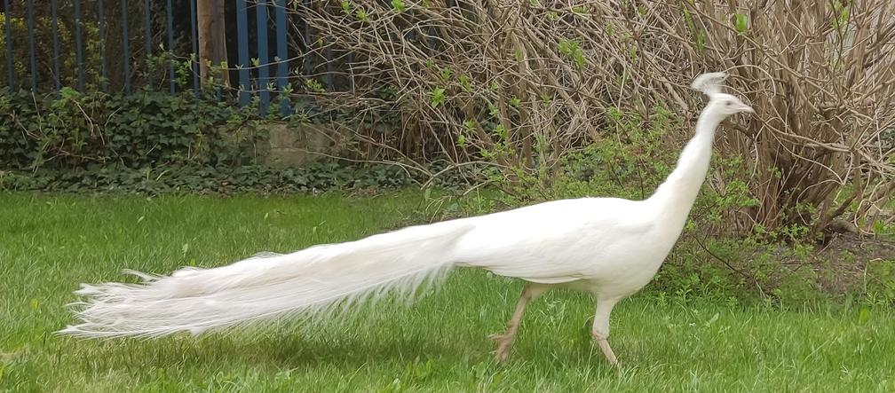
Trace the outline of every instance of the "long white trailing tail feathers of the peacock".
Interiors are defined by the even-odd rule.
[[[81,323],[60,333],[199,334],[286,313],[317,317],[389,291],[409,297],[453,267],[454,245],[471,227],[462,220],[411,226],[356,242],[256,255],[215,269],[184,268],[169,277],[127,271],[143,283],[82,285],[75,293],[87,299],[73,303]]]

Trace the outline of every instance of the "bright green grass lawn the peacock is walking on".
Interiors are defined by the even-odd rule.
[[[895,391],[895,315],[780,311],[639,295],[616,307],[614,370],[589,340],[592,302],[533,302],[506,364],[520,283],[456,271],[410,307],[367,305],[323,325],[281,321],[201,337],[57,337],[81,282],[289,252],[413,221],[413,192],[322,197],[0,195],[0,390],[13,391]],[[756,302],[756,304],[760,304]]]

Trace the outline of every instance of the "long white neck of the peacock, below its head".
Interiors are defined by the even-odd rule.
[[[705,181],[712,159],[715,129],[723,119],[724,116],[717,114],[712,107],[703,109],[696,121],[695,136],[680,153],[678,167],[647,200],[659,209],[662,217],[670,221],[669,226],[679,225],[683,229],[686,216]]]

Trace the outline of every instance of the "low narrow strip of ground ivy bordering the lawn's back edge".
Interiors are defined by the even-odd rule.
[[[432,167],[435,172],[439,167]],[[240,192],[292,193],[332,190],[395,190],[428,179],[391,165],[353,166],[337,161],[278,169],[261,165],[239,167],[166,166],[131,168],[90,165],[36,172],[0,171],[0,190],[20,192],[116,192],[140,194]],[[466,179],[445,174],[432,185],[443,189],[468,186]]]

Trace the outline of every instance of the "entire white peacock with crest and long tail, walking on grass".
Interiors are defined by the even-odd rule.
[[[647,200],[582,198],[550,201],[486,216],[411,226],[348,243],[266,254],[215,269],[185,268],[142,284],[82,285],[78,325],[62,333],[81,337],[158,337],[193,334],[294,314],[326,317],[355,301],[387,292],[411,296],[453,267],[488,269],[526,281],[507,332],[493,337],[497,359],[509,354],[526,303],[565,286],[592,293],[592,336],[610,363],[609,313],[655,275],[678,240],[703,184],[718,124],[752,112],[720,92],[723,73],[706,73],[693,88],[709,96],[695,137],[678,167]]]

